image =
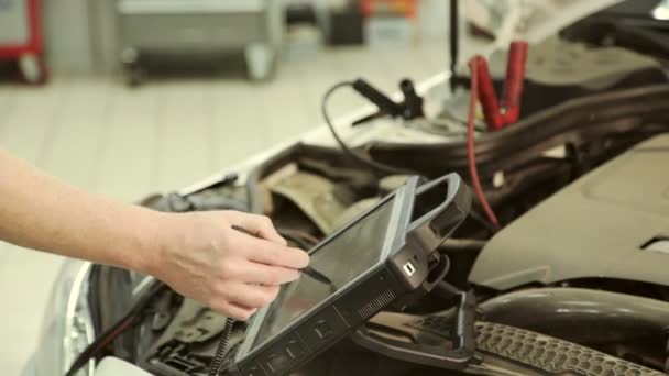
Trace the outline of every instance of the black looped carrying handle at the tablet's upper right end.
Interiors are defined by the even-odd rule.
[[[430,211],[413,219],[408,226],[409,232],[418,234],[418,239],[430,243],[425,244],[428,248],[439,246],[462,223],[471,209],[472,197],[469,187],[458,174],[452,173],[416,188],[414,214],[421,197],[435,191],[440,193],[438,189],[445,186],[443,200]]]

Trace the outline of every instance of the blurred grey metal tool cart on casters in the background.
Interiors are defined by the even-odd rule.
[[[143,55],[188,58],[243,52],[249,77],[271,77],[283,38],[275,0],[117,0],[120,59],[131,85],[142,80]]]

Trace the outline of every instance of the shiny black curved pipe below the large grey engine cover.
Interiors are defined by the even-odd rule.
[[[479,306],[487,321],[629,356],[662,368],[669,302],[584,288],[523,289]],[[574,324],[578,323],[578,324]]]

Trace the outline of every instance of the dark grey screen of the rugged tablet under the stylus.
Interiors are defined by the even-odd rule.
[[[299,279],[284,285],[264,316],[252,349],[272,339],[286,325],[328,299],[337,288],[347,286],[379,264],[383,256],[393,202],[392,199],[386,200],[311,253],[309,266],[326,275],[334,286],[304,273]]]

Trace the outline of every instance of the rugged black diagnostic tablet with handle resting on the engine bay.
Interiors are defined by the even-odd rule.
[[[309,252],[309,266],[331,284],[305,273],[283,286],[250,320],[228,374],[287,374],[425,287],[430,257],[469,213],[471,196],[457,174],[417,184],[409,178]]]

